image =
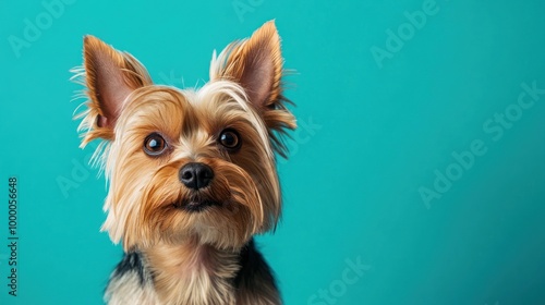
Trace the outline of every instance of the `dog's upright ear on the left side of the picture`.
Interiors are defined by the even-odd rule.
[[[134,57],[94,36],[85,36],[83,56],[89,98],[80,126],[87,130],[83,144],[98,137],[111,141],[124,100],[136,88],[150,85],[152,80]]]

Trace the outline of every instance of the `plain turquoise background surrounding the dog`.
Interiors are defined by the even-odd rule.
[[[101,304],[121,256],[98,232],[105,181],[71,120],[83,35],[132,52],[156,83],[193,87],[214,49],[271,19],[298,71],[287,95],[301,125],[279,162],[282,222],[259,237],[286,304],[545,304],[545,95],[514,106],[521,84],[545,88],[545,2],[437,0],[409,25],[426,5],[76,0],[48,25],[41,1],[1,1],[0,304]],[[10,37],[36,17],[47,26],[17,57]],[[404,37],[390,51],[388,29]],[[389,54],[376,60],[376,48]],[[506,111],[516,120],[488,122]],[[464,169],[452,154],[475,139],[486,152]],[[447,170],[457,180],[426,205],[419,190]],[[4,245],[12,175],[17,297]]]

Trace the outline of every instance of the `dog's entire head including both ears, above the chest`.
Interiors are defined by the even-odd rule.
[[[214,54],[199,89],[154,85],[145,68],[95,37],[84,40],[89,102],[83,145],[104,141],[110,181],[102,227],[125,249],[198,240],[239,247],[272,228],[281,198],[275,151],[294,129],[272,22]]]

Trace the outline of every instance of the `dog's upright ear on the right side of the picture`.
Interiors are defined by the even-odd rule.
[[[228,80],[241,85],[269,131],[284,133],[284,129],[293,130],[296,124],[284,106],[282,64],[280,37],[275,21],[269,21],[249,39],[234,41],[218,58],[213,57],[210,81]],[[270,132],[269,135],[276,150],[284,155],[281,139]]]

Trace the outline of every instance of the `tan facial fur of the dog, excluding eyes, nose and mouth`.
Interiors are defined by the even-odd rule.
[[[182,91],[168,87],[144,87],[132,94],[131,103],[118,119],[117,141],[108,151],[111,191],[102,227],[114,242],[123,239],[125,249],[137,243],[153,246],[161,239],[179,242],[192,234],[221,248],[235,248],[276,223],[279,185],[269,143],[258,132],[263,123],[229,100],[237,97],[216,94],[219,96],[207,95],[192,103]],[[218,149],[213,137],[226,126],[244,135],[245,149],[232,156]],[[171,143],[168,159],[150,159],[142,150],[146,135],[157,131]],[[191,135],[183,136],[187,131]],[[222,208],[185,213],[172,206],[189,195],[178,180],[179,169],[189,161],[205,162],[215,170],[217,176],[203,196],[218,197]],[[241,163],[244,169],[237,166]],[[265,185],[262,192],[256,192],[256,182]]]

